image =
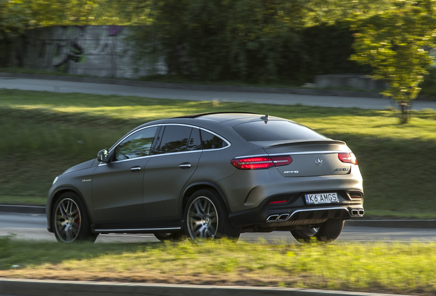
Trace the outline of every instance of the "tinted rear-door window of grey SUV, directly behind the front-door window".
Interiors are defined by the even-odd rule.
[[[184,125],[167,125],[156,153],[173,153],[186,151],[192,127]]]

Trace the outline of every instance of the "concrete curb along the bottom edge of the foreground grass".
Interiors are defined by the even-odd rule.
[[[143,284],[120,282],[74,282],[0,278],[0,294],[26,296],[400,296],[393,294],[275,288],[251,286],[198,286],[191,284]],[[402,295],[404,296],[404,295]]]

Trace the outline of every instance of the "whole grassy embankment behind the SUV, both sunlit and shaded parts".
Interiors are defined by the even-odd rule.
[[[56,175],[95,158],[140,123],[198,112],[247,111],[292,119],[337,140],[359,160],[367,214],[436,217],[436,112],[0,90],[0,203],[44,204]]]

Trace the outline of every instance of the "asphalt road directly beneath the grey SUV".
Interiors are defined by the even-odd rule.
[[[45,214],[18,214],[0,212],[0,236],[15,234],[16,238],[26,240],[56,241],[53,234],[47,232]],[[240,240],[245,242],[267,243],[297,243],[289,232],[246,233],[241,234]],[[356,227],[346,225],[337,241],[424,241],[436,242],[436,229],[416,228],[384,228],[384,227]],[[158,242],[153,234],[103,234],[96,243],[147,243]]]

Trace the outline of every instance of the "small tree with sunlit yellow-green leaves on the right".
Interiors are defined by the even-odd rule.
[[[420,93],[435,48],[436,19],[431,0],[392,1],[391,9],[356,22],[352,60],[370,64],[372,77],[389,87],[381,92],[396,99],[400,123],[407,123],[409,102]]]

